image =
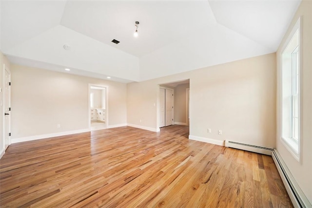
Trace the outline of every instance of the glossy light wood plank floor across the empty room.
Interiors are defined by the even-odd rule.
[[[292,207],[271,156],[120,127],[12,144],[0,207]]]

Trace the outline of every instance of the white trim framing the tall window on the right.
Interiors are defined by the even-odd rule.
[[[288,38],[286,39],[282,50],[280,52],[280,77],[281,77],[281,82],[280,82],[280,89],[281,89],[281,93],[280,93],[280,121],[281,121],[281,128],[280,128],[280,135],[281,135],[281,141],[282,144],[285,146],[285,148],[292,154],[292,156],[298,161],[301,162],[301,140],[302,140],[302,102],[301,102],[301,95],[302,95],[302,84],[301,84],[301,77],[302,77],[302,17],[299,17],[299,19],[297,20],[297,22],[294,24],[291,33],[289,34]],[[292,138],[283,138],[283,58],[282,55],[286,49],[286,47],[288,46],[288,44],[290,43],[290,41],[292,40],[293,35],[296,33],[296,31],[299,31],[299,95],[298,95],[298,108],[299,108],[299,138],[298,138],[298,153],[296,152],[296,150],[293,149],[293,147],[289,144],[290,142],[294,142],[292,141]]]

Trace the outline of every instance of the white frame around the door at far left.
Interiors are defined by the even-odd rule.
[[[10,79],[10,82],[11,82],[11,71],[10,71],[10,69],[5,65],[5,64],[3,64],[3,97],[2,97],[2,100],[3,100],[3,107],[2,107],[2,112],[3,112],[3,117],[2,117],[2,124],[3,124],[3,126],[2,126],[2,128],[3,128],[3,133],[2,133],[2,136],[3,136],[3,145],[4,145],[4,151],[6,150],[6,148],[8,148],[8,146],[11,144],[11,136],[9,136],[9,140],[8,140],[8,143],[5,143],[5,137],[6,137],[6,135],[5,135],[5,129],[6,129],[6,122],[5,122],[5,115],[4,115],[4,113],[5,113],[5,102],[6,102],[6,97],[5,97],[5,71],[7,71],[8,72],[8,74],[9,74],[9,79]],[[11,88],[10,88],[10,90],[9,90],[9,95],[8,95],[8,97],[9,97],[9,100],[8,100],[8,105],[11,107]],[[10,108],[9,107],[9,108]],[[9,125],[9,127],[8,127],[8,130],[9,130],[9,132],[7,132],[7,133],[10,133],[11,132],[11,111],[10,111],[10,115],[9,115],[9,123],[8,123],[8,125]]]

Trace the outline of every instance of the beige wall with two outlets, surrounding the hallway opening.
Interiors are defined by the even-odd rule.
[[[191,135],[275,147],[275,53],[129,83],[128,123],[157,130],[158,84],[185,79],[190,79]]]

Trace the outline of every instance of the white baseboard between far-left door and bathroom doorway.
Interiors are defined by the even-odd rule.
[[[41,134],[41,135],[34,135],[34,136],[26,136],[26,137],[20,137],[20,138],[13,138],[11,139],[11,143],[19,143],[19,142],[27,142],[37,139],[46,139],[56,136],[64,136],[74,133],[83,133],[83,132],[90,132],[90,129],[80,129],[80,130],[74,130],[74,131],[67,131],[67,132],[57,132],[57,133],[48,133],[48,134]]]

